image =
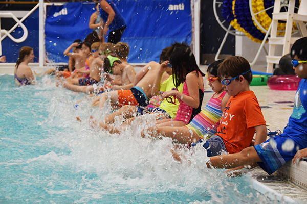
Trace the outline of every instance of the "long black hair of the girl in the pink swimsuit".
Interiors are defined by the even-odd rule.
[[[197,76],[199,76],[199,73],[202,76],[205,75],[198,67],[195,56],[186,43],[175,42],[167,50],[166,56],[170,52],[169,62],[172,65],[173,82],[176,87],[183,83],[186,80],[186,75],[192,71],[196,71]]]

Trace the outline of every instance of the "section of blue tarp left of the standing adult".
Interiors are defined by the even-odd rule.
[[[89,21],[95,4],[82,2],[67,3],[62,6],[47,6],[45,25],[46,54],[52,62],[68,62],[64,50],[75,39],[84,40],[92,30]]]

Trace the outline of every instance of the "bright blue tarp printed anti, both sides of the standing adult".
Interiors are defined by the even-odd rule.
[[[174,41],[191,43],[189,0],[114,1],[127,28],[123,42],[130,46],[129,63],[159,61],[161,50]],[[64,50],[75,40],[83,40],[89,29],[94,3],[67,3],[48,6],[45,25],[46,52],[53,62],[68,62]]]

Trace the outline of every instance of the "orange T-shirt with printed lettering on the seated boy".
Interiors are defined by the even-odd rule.
[[[229,98],[216,135],[224,140],[229,154],[237,153],[250,146],[254,127],[265,124],[254,92],[244,91]]]

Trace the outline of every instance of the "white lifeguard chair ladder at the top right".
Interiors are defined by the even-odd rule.
[[[307,1],[302,0],[297,13],[294,13],[295,0],[289,0],[287,12],[280,12],[283,0],[275,0],[272,18],[271,37],[269,38],[269,55],[267,58],[267,73],[273,72],[273,64],[278,64],[282,56],[290,53],[291,44],[297,39],[307,36],[307,29],[304,22],[307,22]],[[284,36],[277,36],[278,20],[287,22]],[[301,37],[292,37],[292,25],[296,22]],[[276,45],[283,45],[282,56],[275,56]]]

